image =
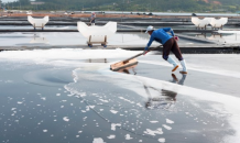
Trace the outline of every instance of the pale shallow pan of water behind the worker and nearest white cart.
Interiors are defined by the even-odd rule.
[[[146,45],[149,42],[149,35],[145,33],[116,33],[108,38],[108,45]],[[1,46],[47,46],[47,45],[87,45],[87,38],[85,38],[78,32],[66,33],[1,33],[0,34]],[[181,40],[179,44],[194,44],[198,43],[190,40]],[[153,42],[152,45],[159,45]]]

